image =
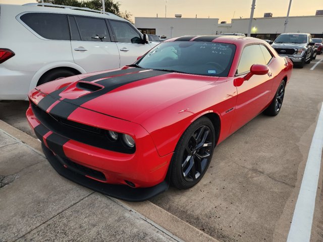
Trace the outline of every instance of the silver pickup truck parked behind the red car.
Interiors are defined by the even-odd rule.
[[[294,66],[303,68],[304,64],[309,64],[315,55],[314,45],[310,34],[285,33],[275,39],[272,47],[279,55],[288,56]]]

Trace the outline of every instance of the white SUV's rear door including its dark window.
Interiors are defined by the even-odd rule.
[[[69,16],[74,62],[86,72],[120,67],[117,44],[111,42],[104,19]]]

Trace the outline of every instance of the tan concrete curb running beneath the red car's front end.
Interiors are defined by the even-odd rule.
[[[37,153],[43,155],[41,150],[41,143],[37,139],[14,128],[13,126],[7,124],[1,119],[0,129],[17,139],[18,141],[28,145]],[[174,239],[178,241],[184,240],[194,242],[219,242],[219,240],[200,231],[199,229],[193,227],[189,223],[181,220],[180,218],[174,216],[173,214],[169,213],[168,211],[158,207],[157,205],[149,201],[141,203],[130,203],[123,202],[114,198],[111,199],[128,210],[134,210],[142,219],[146,220],[154,226],[157,225],[159,230],[169,234],[170,236],[173,235],[172,237],[174,237]]]

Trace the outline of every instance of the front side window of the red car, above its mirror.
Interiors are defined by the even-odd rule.
[[[262,51],[258,44],[248,45],[242,50],[237,74],[250,71],[253,64],[266,65]]]

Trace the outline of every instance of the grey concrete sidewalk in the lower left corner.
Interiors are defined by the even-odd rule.
[[[0,130],[0,241],[181,241],[61,177],[44,155]]]

